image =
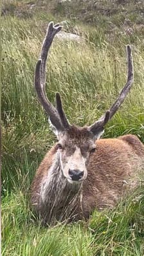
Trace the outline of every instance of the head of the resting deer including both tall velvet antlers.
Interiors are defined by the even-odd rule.
[[[55,35],[61,30],[59,24],[49,23],[46,37],[42,44],[40,59],[35,68],[35,89],[40,104],[49,115],[51,129],[56,134],[58,143],[56,145],[60,156],[61,170],[69,183],[80,183],[87,178],[87,165],[91,155],[96,149],[96,140],[104,133],[106,123],[111,120],[116,113],[127,93],[131,89],[133,82],[133,64],[131,47],[127,46],[128,76],[127,83],[123,87],[120,95],[105,114],[90,126],[78,127],[71,125],[64,110],[59,93],[56,93],[56,107],[54,107],[46,97],[45,93],[45,69],[48,51]],[[95,152],[96,154],[96,152]]]

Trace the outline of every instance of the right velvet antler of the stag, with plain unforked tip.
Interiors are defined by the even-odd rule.
[[[104,128],[105,124],[113,117],[113,115],[116,113],[116,111],[119,109],[120,105],[122,105],[123,100],[127,96],[127,93],[129,93],[132,83],[134,81],[134,70],[133,70],[133,62],[132,62],[132,53],[131,53],[131,47],[127,45],[127,66],[128,66],[128,75],[127,75],[127,83],[123,87],[120,95],[114,102],[114,104],[111,106],[109,110],[106,111],[106,113],[93,125],[89,126],[89,129],[92,133],[97,133],[100,129]]]

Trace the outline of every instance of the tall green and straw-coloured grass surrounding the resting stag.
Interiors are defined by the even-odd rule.
[[[16,9],[26,1],[8,1],[9,6],[10,2]],[[44,228],[30,210],[30,184],[35,170],[56,141],[35,95],[33,71],[48,22],[51,19],[62,21],[65,17],[55,15],[55,8],[52,14],[37,8],[37,12],[27,19],[12,13],[1,17],[2,255],[143,256],[143,177],[140,188],[131,197],[120,202],[114,210],[94,212],[88,223],[58,223],[53,228]],[[129,10],[133,10],[132,5]],[[62,10],[57,13],[62,16]],[[129,27],[124,26],[124,21],[118,19],[119,16],[116,18],[115,13],[109,17],[100,14],[102,17],[96,26],[95,21],[89,24],[69,17],[66,31],[76,30],[84,41],[78,44],[56,39],[53,42],[46,90],[51,102],[54,102],[55,92],[60,92],[71,123],[91,124],[109,108],[125,84],[125,45],[131,44],[134,86],[120,111],[107,125],[104,136],[132,133],[144,143],[142,25],[136,22],[139,16],[132,16],[132,11],[128,14],[129,18],[130,14],[133,17],[132,33],[127,33]],[[107,30],[108,21],[114,26],[112,31]]]

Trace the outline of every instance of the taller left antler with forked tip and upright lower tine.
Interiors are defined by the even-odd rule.
[[[45,85],[46,85],[46,60],[48,57],[48,51],[53,42],[55,35],[62,29],[62,26],[59,24],[53,24],[53,22],[49,23],[48,30],[46,32],[46,37],[44,38],[42,49],[40,52],[40,59],[38,60],[35,67],[35,89],[37,91],[37,96],[39,98],[40,104],[44,107],[46,113],[49,114],[49,118],[51,123],[55,126],[58,131],[63,131],[69,126],[67,122],[66,115],[62,109],[62,102],[60,95],[57,93],[56,101],[57,101],[57,109],[53,107],[51,102],[49,102],[45,93]]]

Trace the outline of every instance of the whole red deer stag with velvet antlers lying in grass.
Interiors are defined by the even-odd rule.
[[[116,102],[95,123],[71,125],[59,93],[56,107],[46,97],[45,69],[53,38],[61,30],[49,23],[35,68],[35,89],[40,104],[49,115],[58,143],[46,154],[31,185],[31,203],[43,223],[89,217],[96,208],[113,207],[136,183],[136,171],[142,167],[144,145],[137,136],[100,139],[104,126],[113,117],[129,93],[133,82],[131,47],[127,46],[128,78]],[[134,178],[135,176],[135,178]],[[127,185],[126,185],[127,184]]]

